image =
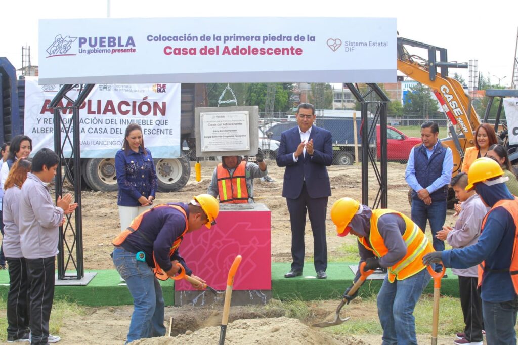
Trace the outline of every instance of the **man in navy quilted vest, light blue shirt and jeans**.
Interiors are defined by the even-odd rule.
[[[424,232],[430,222],[433,246],[444,250],[444,241],[436,237],[446,219],[448,184],[452,178],[453,154],[439,140],[439,126],[433,121],[421,125],[421,145],[410,150],[405,180],[412,189],[412,221]],[[440,271],[441,264],[435,270]]]

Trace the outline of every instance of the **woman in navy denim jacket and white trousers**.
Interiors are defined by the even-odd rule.
[[[153,204],[157,179],[151,152],[144,147],[142,128],[137,124],[126,127],[122,149],[115,156],[119,194],[117,205],[121,231]]]

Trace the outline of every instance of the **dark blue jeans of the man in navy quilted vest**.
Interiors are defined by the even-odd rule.
[[[417,224],[424,233],[426,221],[430,222],[431,237],[433,238],[433,246],[436,251],[444,250],[444,241],[441,241],[435,235],[442,230],[444,221],[446,220],[446,200],[442,202],[433,202],[426,205],[423,200],[412,199],[412,221]],[[440,270],[442,264],[435,264],[435,270]]]

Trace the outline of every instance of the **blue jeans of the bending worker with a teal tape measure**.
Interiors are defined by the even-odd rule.
[[[133,297],[133,314],[126,343],[141,338],[162,337],[164,326],[164,298],[162,287],[147,263],[137,261],[135,253],[123,248],[113,250],[113,264]]]

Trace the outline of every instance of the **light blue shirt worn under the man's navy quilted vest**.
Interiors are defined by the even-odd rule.
[[[440,144],[440,140],[437,140],[434,147],[431,150],[428,150],[428,148],[425,147],[426,155],[428,156],[428,160],[430,159],[431,155],[434,153],[435,149],[437,148],[437,145]],[[405,170],[405,180],[407,181],[408,185],[411,189],[413,189],[416,192],[419,192],[423,189],[423,186],[419,184],[418,179],[415,177],[415,165],[414,165],[414,149],[415,147],[410,150],[410,155],[408,157],[408,163],[407,168]],[[432,184],[429,186],[426,186],[426,190],[428,193],[433,193],[439,188],[441,188],[445,184],[449,184],[452,178],[452,172],[453,172],[453,153],[452,150],[448,147],[446,148],[446,153],[444,155],[444,161],[442,161],[442,172],[441,176],[439,176]]]

